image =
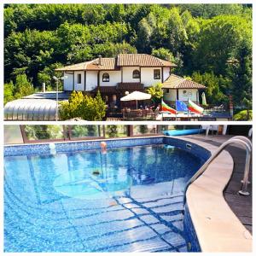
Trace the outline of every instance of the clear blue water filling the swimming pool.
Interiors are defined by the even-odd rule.
[[[5,252],[185,252],[183,189],[202,160],[169,145],[4,161]]]

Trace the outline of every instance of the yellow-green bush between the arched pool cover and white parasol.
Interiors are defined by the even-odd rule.
[[[63,120],[81,118],[101,121],[106,115],[106,103],[99,91],[96,97],[84,96],[81,91],[73,91],[68,102],[61,102],[60,105],[60,117]]]

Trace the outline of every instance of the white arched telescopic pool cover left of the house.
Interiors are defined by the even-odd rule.
[[[55,120],[56,101],[50,99],[19,99],[4,107],[5,120]]]

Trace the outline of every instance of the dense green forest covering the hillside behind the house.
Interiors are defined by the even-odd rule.
[[[43,82],[51,90],[55,67],[119,53],[175,62],[174,73],[205,83],[212,103],[252,101],[251,5],[7,4],[5,102],[22,96],[20,79],[30,92]]]

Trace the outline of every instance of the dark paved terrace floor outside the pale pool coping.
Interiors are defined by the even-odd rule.
[[[202,142],[210,143],[214,146],[220,146],[222,143],[230,139],[233,136],[218,136],[218,135],[189,135],[184,137],[196,138]],[[252,185],[248,185],[248,191],[250,195],[243,196],[237,192],[241,189],[241,180],[243,178],[246,151],[240,145],[233,144],[226,148],[231,154],[234,160],[234,171],[230,182],[224,190],[224,198],[229,204],[233,212],[235,212],[237,218],[247,230],[252,234],[253,232],[253,206],[252,206]],[[250,170],[249,180],[252,181],[252,166]]]

